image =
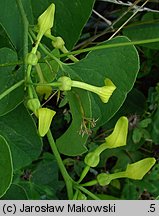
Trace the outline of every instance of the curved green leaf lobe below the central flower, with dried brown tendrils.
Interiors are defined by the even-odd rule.
[[[67,92],[67,97],[72,114],[72,123],[56,143],[61,153],[75,156],[87,151],[85,143],[88,139],[89,128],[85,128],[84,117],[85,120],[91,118],[91,105],[89,94],[86,91],[74,89]]]

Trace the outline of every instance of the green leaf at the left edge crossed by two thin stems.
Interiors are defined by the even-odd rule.
[[[17,60],[17,54],[11,49],[0,49],[0,64],[16,62]],[[15,66],[0,67],[0,74],[0,94],[20,81],[23,75],[21,69],[15,70]],[[22,102],[23,96],[24,86],[22,85],[0,100],[0,116],[5,115],[18,106]]]

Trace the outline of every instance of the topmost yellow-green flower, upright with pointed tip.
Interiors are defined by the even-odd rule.
[[[42,36],[47,33],[50,34],[50,29],[54,24],[55,5],[52,3],[38,18],[38,35],[37,40],[40,41]]]

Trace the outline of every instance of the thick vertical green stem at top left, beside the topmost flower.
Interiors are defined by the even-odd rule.
[[[23,8],[23,4],[21,2],[21,0],[16,0],[20,14],[21,14],[21,18],[22,18],[22,22],[23,22],[23,28],[24,28],[24,34],[23,34],[23,61],[24,61],[24,69],[26,71],[27,69],[27,64],[25,62],[25,57],[28,54],[28,19],[26,17],[24,8]]]

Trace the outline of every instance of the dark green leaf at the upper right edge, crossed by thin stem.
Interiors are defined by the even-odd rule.
[[[147,17],[148,16],[148,17]],[[154,14],[149,13],[143,16],[142,21],[133,26],[126,27],[123,34],[130,38],[132,41],[148,40],[159,37],[159,24],[154,19]],[[158,20],[158,19],[157,19]],[[148,21],[148,22],[147,22]],[[151,21],[151,22],[150,22]],[[147,22],[147,23],[146,23]],[[140,46],[148,47],[151,49],[159,49],[159,43],[142,44]]]

